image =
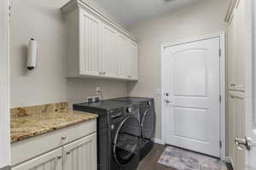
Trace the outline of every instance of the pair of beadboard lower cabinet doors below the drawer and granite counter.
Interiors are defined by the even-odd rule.
[[[96,133],[78,139],[13,170],[96,170]]]

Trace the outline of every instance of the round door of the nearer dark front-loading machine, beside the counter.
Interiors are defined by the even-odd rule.
[[[114,141],[113,156],[119,165],[129,164],[139,150],[140,128],[131,128],[132,126],[140,126],[137,116],[126,117],[119,125]]]

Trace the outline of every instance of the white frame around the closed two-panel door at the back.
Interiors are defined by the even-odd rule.
[[[162,127],[161,127],[161,133],[162,133],[162,143],[166,144],[166,137],[164,135],[164,128],[165,128],[165,117],[163,116],[163,108],[164,108],[164,95],[163,95],[163,57],[164,57],[164,51],[166,47],[170,46],[177,46],[178,44],[188,43],[188,42],[197,42],[205,39],[212,39],[215,37],[219,37],[220,40],[220,50],[221,50],[221,56],[220,56],[220,92],[219,95],[221,95],[221,104],[220,104],[220,140],[221,140],[221,149],[220,149],[220,159],[225,161],[225,146],[226,146],[226,140],[225,140],[225,77],[226,77],[226,71],[225,71],[225,34],[224,32],[219,32],[212,35],[202,36],[202,37],[194,37],[189,38],[187,40],[178,41],[178,42],[164,42],[161,44],[161,116],[162,116]]]

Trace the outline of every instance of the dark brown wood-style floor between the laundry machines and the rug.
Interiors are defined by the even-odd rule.
[[[148,156],[140,162],[137,170],[177,170],[157,163],[164,150],[164,145],[154,144],[153,149],[148,153]],[[223,167],[223,170],[226,170],[226,167]]]

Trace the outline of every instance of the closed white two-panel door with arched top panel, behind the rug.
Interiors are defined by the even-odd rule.
[[[184,42],[164,49],[164,142],[220,156],[220,40]]]

